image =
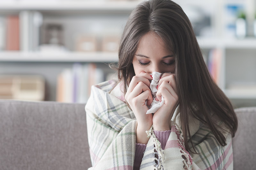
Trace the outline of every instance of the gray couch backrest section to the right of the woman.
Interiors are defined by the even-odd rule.
[[[256,159],[256,107],[235,109],[238,129],[232,139],[234,170],[254,169]]]

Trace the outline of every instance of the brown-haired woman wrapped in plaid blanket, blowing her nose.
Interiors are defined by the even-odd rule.
[[[233,169],[236,115],[178,4],[139,4],[118,56],[119,81],[93,86],[85,107],[91,169]],[[163,105],[146,114],[153,101]]]

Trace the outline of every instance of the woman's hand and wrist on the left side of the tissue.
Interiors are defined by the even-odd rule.
[[[148,143],[145,131],[149,130],[153,124],[152,114],[146,114],[148,106],[153,101],[149,80],[153,80],[153,78],[146,72],[133,76],[125,94],[125,100],[137,119],[136,142],[141,144]],[[148,106],[145,104],[146,101]]]

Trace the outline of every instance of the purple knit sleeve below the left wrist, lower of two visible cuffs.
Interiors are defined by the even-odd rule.
[[[134,165],[133,165],[134,170],[140,169],[140,164],[141,164],[144,152],[146,150],[146,147],[147,147],[146,144],[136,143],[136,145],[135,145]]]

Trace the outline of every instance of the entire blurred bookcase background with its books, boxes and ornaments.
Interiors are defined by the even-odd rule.
[[[119,38],[141,0],[0,0],[0,99],[85,103],[116,77]],[[256,0],[174,0],[234,108],[256,106]]]

